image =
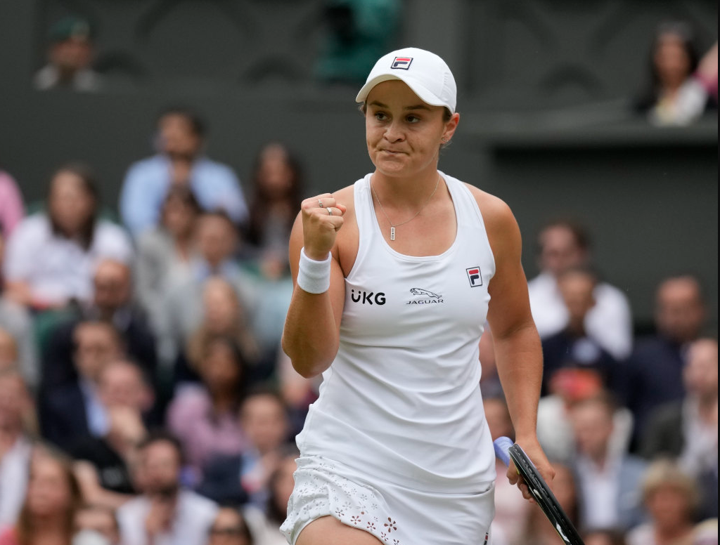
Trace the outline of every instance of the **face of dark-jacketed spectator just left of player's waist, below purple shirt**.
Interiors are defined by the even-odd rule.
[[[246,398],[240,410],[240,426],[259,452],[271,452],[281,446],[287,436],[287,412],[279,398],[256,394]]]

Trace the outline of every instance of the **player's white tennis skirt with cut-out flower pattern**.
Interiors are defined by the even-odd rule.
[[[361,475],[325,457],[297,459],[294,490],[280,530],[294,545],[305,526],[333,516],[390,545],[490,545],[495,485],[440,494]]]

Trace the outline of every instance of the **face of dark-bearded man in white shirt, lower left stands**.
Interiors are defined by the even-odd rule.
[[[140,453],[140,486],[147,495],[175,495],[179,488],[180,453],[171,441],[153,441]]]

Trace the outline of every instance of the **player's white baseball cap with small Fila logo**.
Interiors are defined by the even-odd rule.
[[[366,101],[374,86],[388,80],[404,81],[426,104],[445,106],[455,113],[455,78],[445,61],[435,53],[404,47],[383,55],[370,71],[355,101]]]

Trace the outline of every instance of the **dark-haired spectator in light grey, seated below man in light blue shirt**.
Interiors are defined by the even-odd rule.
[[[168,285],[185,283],[194,257],[194,234],[200,207],[190,188],[171,186],[163,202],[160,224],[138,238],[136,287],[138,300],[153,325],[161,323]]]

